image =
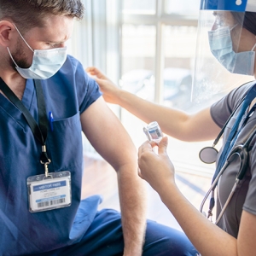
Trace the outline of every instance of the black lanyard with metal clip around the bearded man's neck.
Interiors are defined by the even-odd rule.
[[[0,78],[0,90],[3,91],[4,95],[9,98],[9,101],[12,102],[16,108],[18,108],[21,113],[23,113],[27,124],[34,137],[42,144],[42,154],[40,156],[40,162],[44,165],[45,177],[48,177],[48,165],[50,163],[49,157],[46,152],[46,138],[48,134],[48,119],[46,115],[46,108],[44,102],[44,93],[42,89],[41,81],[36,79],[33,80],[37,92],[38,100],[38,124],[35,119],[33,119],[32,114],[26,109],[20,99],[15,95],[15,93],[9,88],[7,84],[4,83],[3,79]]]

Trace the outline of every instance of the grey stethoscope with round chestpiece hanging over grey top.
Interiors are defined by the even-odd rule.
[[[244,99],[241,100],[241,102],[243,102]],[[214,148],[220,137],[222,137],[223,133],[224,133],[224,129],[226,128],[226,126],[228,125],[230,119],[234,116],[234,114],[236,113],[237,108],[240,107],[241,102],[238,104],[238,106],[236,107],[236,109],[230,114],[230,118],[226,121],[226,123],[224,124],[222,130],[219,132],[218,137],[214,140],[212,147],[206,147],[206,148],[202,148],[199,156],[200,159],[207,164],[212,164],[216,161],[217,159],[217,154],[218,154],[218,150],[216,148]],[[256,106],[254,105],[253,108],[251,109],[251,111],[247,114],[247,119],[253,114],[254,110],[255,110]],[[237,160],[237,158],[240,160],[240,167],[239,167],[239,171],[236,174],[236,181],[231,189],[230,195],[228,196],[227,201],[224,203],[224,207],[222,207],[221,212],[218,215],[218,218],[216,219],[215,224],[218,224],[219,220],[222,218],[222,216],[224,215],[224,211],[226,210],[226,208],[228,207],[228,204],[230,203],[230,200],[232,198],[232,196],[234,195],[236,188],[238,186],[238,184],[241,182],[242,178],[245,176],[245,173],[247,171],[247,160],[248,160],[248,147],[249,144],[251,143],[253,137],[256,134],[256,125],[253,127],[252,131],[249,132],[247,138],[245,139],[245,143],[241,143],[239,145],[237,145],[235,148],[233,148],[227,159],[224,162],[224,166],[222,166],[222,168],[220,169],[220,171],[218,172],[218,176],[215,177],[210,189],[207,191],[207,194],[205,195],[203,201],[201,202],[201,207],[200,207],[200,212],[203,212],[203,207],[205,205],[205,202],[207,201],[208,196],[213,193],[214,194],[214,189],[218,183],[219,177],[222,176],[222,174],[224,173],[224,171],[226,170],[226,168],[230,165],[230,163],[234,160]],[[214,196],[214,195],[213,195]],[[211,211],[212,212],[212,211]],[[209,218],[210,216],[212,216],[212,213],[208,212],[208,216],[207,218]],[[205,214],[206,215],[206,214]]]

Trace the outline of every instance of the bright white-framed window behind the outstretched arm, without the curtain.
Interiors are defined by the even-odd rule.
[[[190,102],[200,1],[147,3],[123,1],[119,85],[149,101],[196,112],[211,103]],[[121,119],[140,146],[146,139],[143,121],[124,109]],[[169,154],[177,170],[211,176],[214,165],[207,166],[198,158],[201,148],[211,144],[183,143],[170,137]]]

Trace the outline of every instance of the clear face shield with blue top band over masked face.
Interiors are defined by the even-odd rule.
[[[244,28],[247,3],[243,1],[241,7],[238,2],[201,1],[192,102],[206,101],[254,79],[256,38]]]

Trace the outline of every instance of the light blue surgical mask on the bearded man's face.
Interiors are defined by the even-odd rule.
[[[17,32],[19,32],[16,26],[15,28]],[[21,34],[20,37],[26,43],[26,40],[22,37]],[[20,73],[20,76],[22,76],[24,79],[49,79],[62,67],[67,59],[67,47],[33,50],[27,43],[26,45],[34,53],[32,66],[29,68],[18,67],[9,51],[9,48],[7,48],[11,59],[15,63],[18,73]]]

